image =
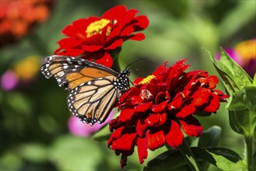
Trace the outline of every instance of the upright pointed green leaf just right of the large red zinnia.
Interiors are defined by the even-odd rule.
[[[205,50],[206,51],[206,50]],[[223,84],[226,90],[232,95],[234,92],[239,91],[244,88],[244,86],[251,86],[252,79],[247,72],[244,71],[240,65],[237,65],[235,61],[221,48],[221,58],[216,60],[211,54],[211,52],[206,51],[213,65],[216,67],[217,72],[219,72],[220,77],[223,79]]]

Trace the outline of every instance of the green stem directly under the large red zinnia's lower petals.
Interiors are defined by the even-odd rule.
[[[181,152],[181,155],[184,157],[184,159],[188,162],[188,166],[193,171],[201,171],[202,168],[199,165],[198,161],[195,159],[195,155],[191,151],[191,148],[188,145],[188,142],[184,139],[182,145],[178,146],[179,151]]]

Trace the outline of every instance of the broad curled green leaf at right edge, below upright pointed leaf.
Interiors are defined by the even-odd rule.
[[[256,87],[247,86],[234,93],[226,108],[233,131],[252,135],[256,127]]]

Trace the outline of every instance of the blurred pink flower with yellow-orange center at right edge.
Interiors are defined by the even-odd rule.
[[[254,77],[256,72],[256,39],[245,40],[233,48],[224,48],[227,54],[244,68],[248,75]],[[216,55],[220,58],[220,54]]]

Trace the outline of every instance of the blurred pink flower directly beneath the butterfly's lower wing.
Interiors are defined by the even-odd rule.
[[[90,134],[99,131],[100,128],[103,127],[105,124],[108,124],[113,116],[114,111],[112,110],[110,112],[110,115],[107,117],[107,120],[105,120],[102,124],[95,123],[93,124],[93,126],[91,126],[90,124],[84,124],[77,117],[72,116],[68,120],[68,130],[74,135],[80,137],[88,137]]]

